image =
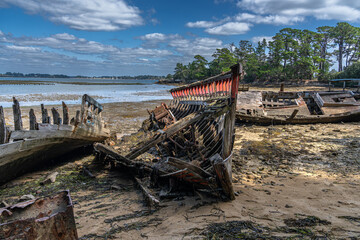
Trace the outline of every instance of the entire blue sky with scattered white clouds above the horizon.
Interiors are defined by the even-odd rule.
[[[166,75],[285,27],[359,26],[354,0],[0,0],[0,73]]]

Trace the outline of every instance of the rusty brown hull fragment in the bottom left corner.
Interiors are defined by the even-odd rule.
[[[78,239],[69,192],[0,208],[0,239]]]

